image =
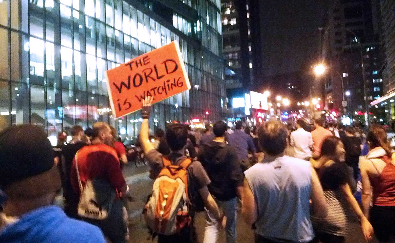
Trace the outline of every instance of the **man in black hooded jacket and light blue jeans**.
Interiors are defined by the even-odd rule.
[[[235,148],[226,144],[227,126],[223,121],[214,124],[214,139],[199,147],[198,159],[207,171],[211,184],[209,192],[214,196],[218,207],[224,211],[226,221],[226,241],[236,240],[237,198],[243,202],[243,172]],[[203,243],[215,243],[219,234],[220,222],[207,211]]]

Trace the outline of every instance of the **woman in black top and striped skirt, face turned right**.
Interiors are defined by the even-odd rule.
[[[352,194],[349,172],[344,161],[345,151],[340,138],[328,136],[321,146],[321,155],[311,159],[313,168],[320,178],[328,214],[325,218],[312,217],[316,237],[322,243],[342,243],[347,234],[346,203],[348,203],[361,221],[366,240],[371,239],[372,226],[363,215],[361,208]]]

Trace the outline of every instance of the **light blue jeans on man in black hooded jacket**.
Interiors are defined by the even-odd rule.
[[[236,242],[236,217],[237,217],[237,198],[232,198],[229,201],[219,201],[215,199],[218,207],[224,212],[226,216],[226,242]],[[216,243],[219,234],[219,227],[221,222],[218,222],[214,216],[206,209],[206,227],[204,230],[203,243]]]

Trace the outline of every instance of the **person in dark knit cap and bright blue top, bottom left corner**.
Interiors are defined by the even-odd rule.
[[[68,218],[52,206],[60,189],[58,159],[36,125],[0,132],[1,243],[105,243],[96,226]]]

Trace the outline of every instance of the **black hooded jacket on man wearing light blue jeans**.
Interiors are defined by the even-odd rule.
[[[199,147],[198,159],[211,179],[210,193],[220,201],[234,198],[244,179],[235,148],[211,141]]]

